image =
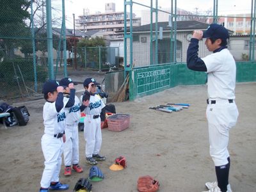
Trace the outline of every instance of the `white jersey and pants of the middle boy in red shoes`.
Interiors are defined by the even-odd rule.
[[[64,100],[68,100],[64,97]],[[65,134],[66,142],[63,146],[63,156],[65,166],[79,163],[79,137],[78,137],[78,122],[80,119],[80,100],[75,96],[75,104],[71,108],[65,108],[67,113]]]

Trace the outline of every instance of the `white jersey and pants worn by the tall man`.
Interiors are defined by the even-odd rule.
[[[238,110],[234,101],[236,62],[228,49],[202,58],[207,67],[208,98],[206,115],[209,128],[210,154],[215,166],[228,164],[229,129],[234,127]],[[215,103],[212,104],[212,100]]]

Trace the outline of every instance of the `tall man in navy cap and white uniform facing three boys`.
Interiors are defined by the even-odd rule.
[[[198,58],[198,42],[213,53]],[[235,103],[236,62],[227,49],[228,30],[211,24],[206,31],[194,31],[187,52],[187,66],[191,70],[207,72],[208,99],[206,116],[209,129],[210,155],[214,161],[217,182],[205,186],[212,192],[232,191],[228,183],[230,157],[229,130],[236,125],[238,110]]]

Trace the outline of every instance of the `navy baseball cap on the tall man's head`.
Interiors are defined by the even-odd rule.
[[[213,23],[211,24],[206,31],[204,31],[203,38],[214,38],[214,39],[222,39],[227,40],[229,38],[228,29],[223,26]]]

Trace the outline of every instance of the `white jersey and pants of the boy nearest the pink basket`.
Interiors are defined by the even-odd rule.
[[[81,96],[83,100],[83,95]],[[99,154],[102,134],[100,129],[100,112],[105,107],[104,102],[98,95],[91,95],[89,106],[84,109],[86,114],[84,118],[84,139],[86,140],[85,155],[92,157],[93,154]],[[94,115],[99,115],[98,118],[93,118]]]

